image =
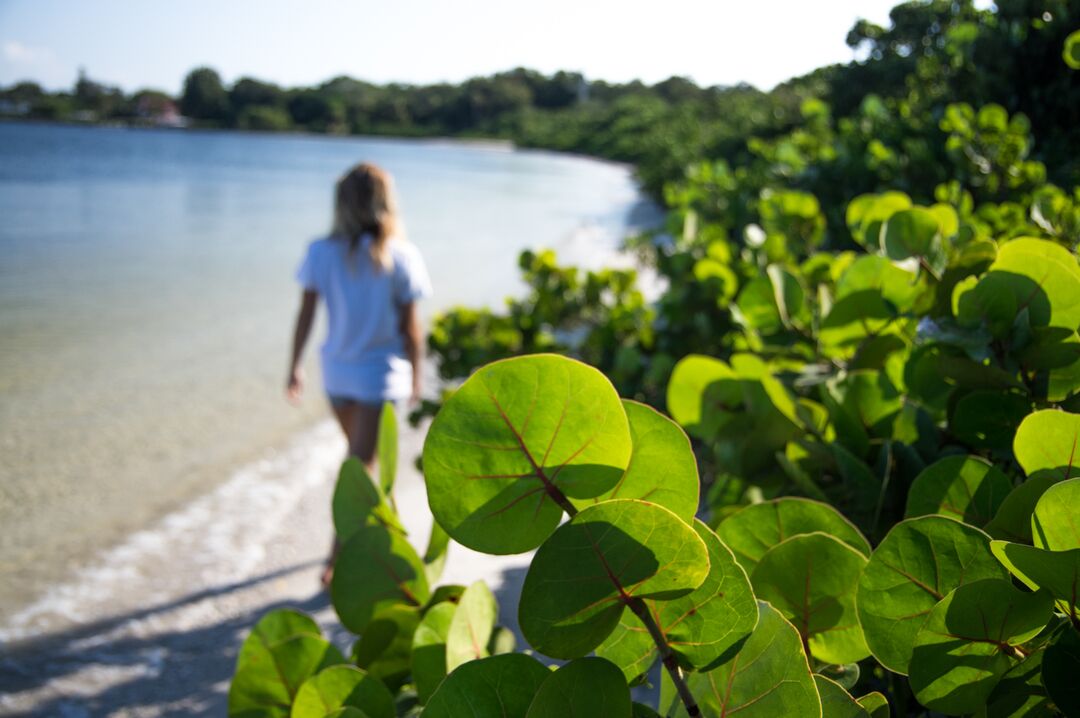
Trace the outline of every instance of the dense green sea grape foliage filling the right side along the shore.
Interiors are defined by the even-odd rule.
[[[314,93],[327,131],[630,160],[669,209],[627,242],[652,301],[632,271],[527,252],[505,311],[436,319],[454,387],[427,407],[422,559],[391,482],[342,470],[334,604],[399,714],[647,716],[626,689],[658,662],[667,716],[1077,713],[1078,19],[905,3],[852,30],[864,62],[769,95],[579,101],[580,78],[527,71]],[[568,664],[502,654],[482,584],[432,591],[451,537],[536,548],[525,648]],[[248,639],[238,695],[287,708],[296,686],[248,667],[281,638]]]

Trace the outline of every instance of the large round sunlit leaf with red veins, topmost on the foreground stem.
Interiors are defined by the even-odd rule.
[[[626,414],[603,374],[552,354],[503,360],[476,371],[432,422],[428,502],[455,541],[522,553],[555,530],[559,492],[609,491],[631,447]]]

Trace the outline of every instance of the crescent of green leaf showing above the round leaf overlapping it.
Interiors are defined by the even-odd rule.
[[[870,544],[854,524],[827,503],[810,499],[788,497],[751,504],[724,519],[716,532],[747,572],[769,548],[802,533],[827,533],[870,555]]]

